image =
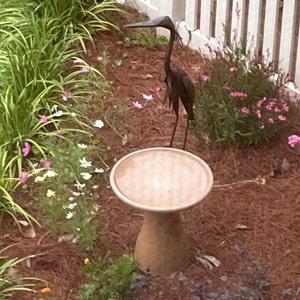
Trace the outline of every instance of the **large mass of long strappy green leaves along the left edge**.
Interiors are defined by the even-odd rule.
[[[15,220],[17,213],[31,218],[10,193],[22,173],[30,177],[37,171],[34,164],[53,154],[47,144],[51,137],[89,134],[79,103],[94,97],[106,80],[78,59],[78,45],[84,50],[92,33],[115,28],[109,20],[116,11],[110,0],[1,1],[0,211]],[[22,153],[26,143],[29,155]]]

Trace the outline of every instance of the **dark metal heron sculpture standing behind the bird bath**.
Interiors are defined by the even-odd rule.
[[[179,111],[179,98],[187,112],[187,124],[185,130],[185,137],[183,143],[183,149],[185,149],[185,144],[187,140],[189,120],[194,120],[194,112],[193,112],[193,103],[195,98],[195,87],[187,73],[179,68],[171,67],[171,54],[173,49],[173,44],[176,39],[181,41],[181,37],[177,32],[173,21],[168,16],[163,16],[156,18],[151,21],[140,22],[140,23],[132,23],[125,25],[128,28],[135,27],[163,27],[170,30],[170,39],[167,48],[167,53],[165,56],[165,83],[167,85],[167,95],[169,98],[169,106],[173,108],[176,121],[172,133],[172,138],[170,142],[170,147],[172,147],[177,123],[178,123],[178,111]]]

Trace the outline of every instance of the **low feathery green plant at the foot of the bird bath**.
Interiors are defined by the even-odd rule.
[[[122,255],[114,260],[97,258],[93,261],[85,259],[83,272],[88,276],[89,283],[80,286],[79,300],[123,299],[133,281],[140,278],[134,272],[137,263],[131,255]]]

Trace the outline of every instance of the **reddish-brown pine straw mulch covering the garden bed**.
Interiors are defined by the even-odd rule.
[[[128,143],[122,145],[122,138],[112,128],[103,128],[103,143],[112,146],[111,166],[115,158],[132,151],[168,146],[175,122],[174,113],[164,102],[165,85],[161,82],[166,46],[157,51],[125,48],[117,43],[121,38],[119,33],[96,36],[86,57],[97,68],[104,50],[111,62],[122,59],[119,67],[107,65],[107,76],[113,81],[113,104],[129,108],[122,129]],[[192,80],[198,80],[203,69],[198,53],[176,45],[172,60]],[[154,99],[143,100],[143,93]],[[135,108],[132,101],[142,103],[143,109]],[[182,147],[185,118],[182,110],[176,148]],[[300,299],[299,291],[296,296],[300,287],[300,156],[287,145],[287,136],[299,132],[300,122],[290,124],[281,136],[258,148],[224,149],[190,130],[186,150],[208,163],[215,180],[209,197],[182,213],[193,255],[182,270],[170,276],[150,276],[133,285],[128,299]],[[282,172],[277,176],[278,170]],[[255,180],[259,177],[266,183],[259,184]],[[16,200],[39,218],[28,194],[17,194]],[[108,227],[106,239],[99,238],[95,252],[101,256],[133,252],[141,213],[118,200],[111,189],[99,191],[99,203],[99,221]],[[79,284],[85,280],[80,266],[87,253],[77,245],[58,243],[45,228],[37,228],[37,236],[31,239],[23,237],[9,218],[2,227],[2,241],[16,243],[8,252],[11,257],[38,254],[30,263],[21,264],[19,272],[49,282],[51,296],[75,299]],[[216,257],[221,265],[208,270],[196,259],[200,254]],[[36,290],[44,286],[38,283]],[[27,293],[14,299],[39,298],[39,293]]]

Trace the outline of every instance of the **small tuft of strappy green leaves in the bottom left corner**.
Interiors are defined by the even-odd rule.
[[[0,254],[6,251],[9,247],[0,250]],[[0,256],[0,299],[12,299],[13,293],[16,291],[32,291],[30,287],[33,283],[26,283],[29,280],[38,280],[37,278],[22,278],[16,272],[15,267],[22,261],[29,259],[30,256],[24,258],[7,259],[5,256]]]

